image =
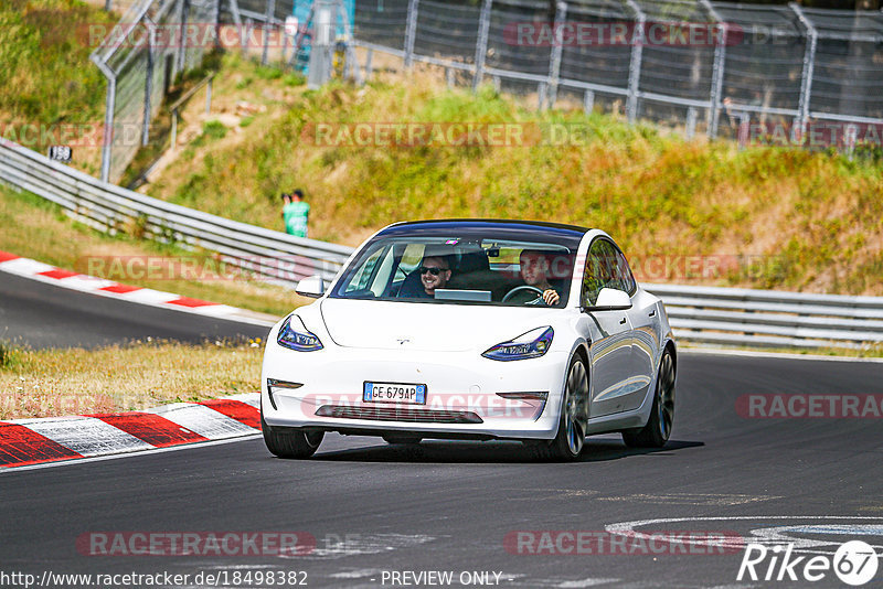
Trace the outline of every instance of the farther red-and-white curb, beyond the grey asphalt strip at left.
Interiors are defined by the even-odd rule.
[[[244,309],[237,309],[236,307],[230,307],[228,304],[181,297],[180,294],[172,294],[171,292],[163,292],[161,290],[121,285],[114,280],[77,274],[50,266],[49,264],[43,264],[42,261],[21,258],[14,254],[2,250],[0,250],[0,271],[63,288],[70,288],[72,290],[78,290],[81,292],[92,292],[103,297],[111,297],[140,304],[148,304],[150,307],[174,309],[177,311],[216,317],[220,319],[231,319],[263,326],[272,326],[275,323],[275,320],[268,315],[260,317],[263,313],[254,313]]]

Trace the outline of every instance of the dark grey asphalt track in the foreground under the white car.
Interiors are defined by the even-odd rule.
[[[71,313],[77,309],[72,302]],[[145,321],[145,329],[160,319]],[[451,571],[455,587],[478,586],[460,583],[471,571],[487,571],[491,581],[500,574],[501,587],[805,587],[810,583],[737,582],[741,549],[532,555],[506,539],[519,531],[604,532],[667,518],[675,521],[632,527],[754,538],[790,526],[790,537],[820,542],[810,553],[831,554],[855,538],[879,546],[881,419],[749,419],[735,407],[747,393],[880,394],[881,382],[879,363],[684,353],[669,445],[630,450],[617,436],[595,437],[574,463],[538,462],[517,442],[408,447],[333,435],[302,461],[276,459],[251,438],[0,472],[0,580],[3,572],[39,580],[50,571],[166,571],[190,576],[166,586],[203,587],[205,577],[195,576],[215,574],[226,576],[222,587],[270,587],[256,582],[256,574],[305,571],[309,587],[437,587],[413,577],[400,577],[407,585],[391,581],[392,571],[438,570]],[[77,549],[84,534],[116,532],[299,533],[315,538],[315,549],[286,557],[85,556]],[[252,582],[233,582],[236,572],[240,579],[251,572]],[[2,585],[17,586],[11,581]],[[883,570],[864,587],[881,585]],[[811,586],[845,587],[830,571]]]

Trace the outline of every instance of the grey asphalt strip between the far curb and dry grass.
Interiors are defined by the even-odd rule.
[[[216,338],[264,338],[268,331],[0,272],[0,340],[34,349],[97,347],[146,338],[199,343]]]

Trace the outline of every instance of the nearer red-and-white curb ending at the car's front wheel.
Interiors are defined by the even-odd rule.
[[[259,403],[252,393],[143,411],[0,421],[0,470],[254,436]]]

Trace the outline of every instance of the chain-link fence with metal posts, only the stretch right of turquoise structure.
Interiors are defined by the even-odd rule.
[[[354,41],[490,78],[540,108],[577,100],[737,137],[883,124],[883,12],[708,0],[357,0]],[[450,78],[450,76],[449,76]],[[578,104],[577,103],[577,104]]]

